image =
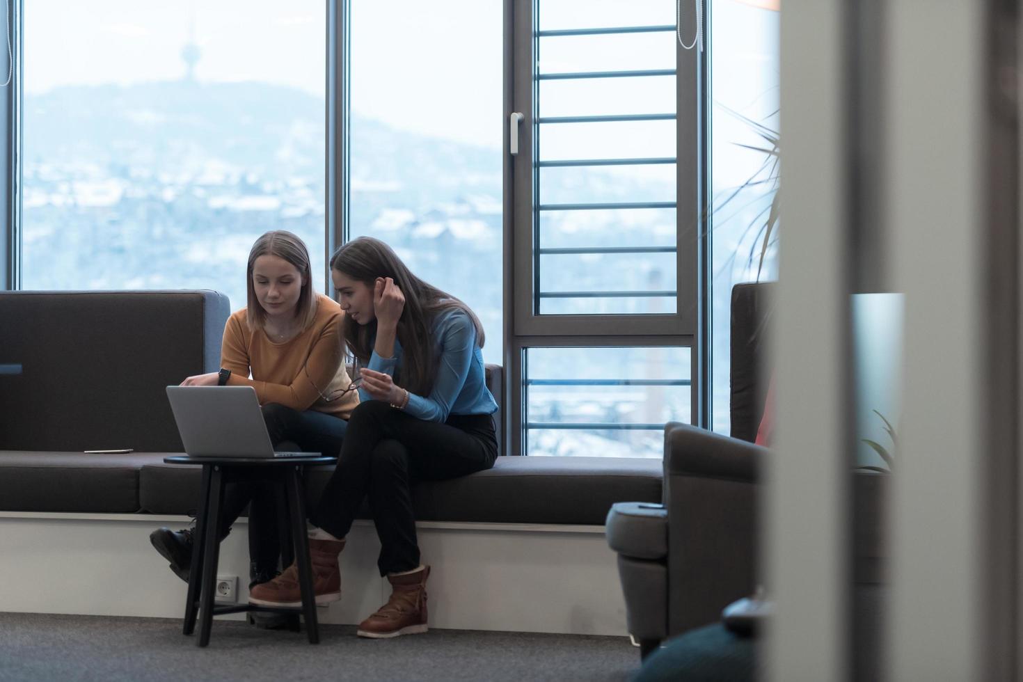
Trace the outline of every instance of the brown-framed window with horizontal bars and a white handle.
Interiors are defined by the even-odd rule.
[[[699,56],[674,3],[516,10],[514,437],[529,455],[660,457],[665,422],[694,414]]]

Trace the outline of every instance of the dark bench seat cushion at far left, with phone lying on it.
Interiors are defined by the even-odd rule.
[[[135,512],[139,510],[139,469],[163,457],[148,453],[0,452],[0,508]]]

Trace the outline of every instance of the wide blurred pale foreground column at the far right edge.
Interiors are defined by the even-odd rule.
[[[886,222],[905,293],[893,680],[1020,679],[1016,5],[889,4]]]

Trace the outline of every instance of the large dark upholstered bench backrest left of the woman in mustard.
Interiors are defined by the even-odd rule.
[[[0,292],[0,450],[180,452],[165,387],[216,371],[216,291]]]

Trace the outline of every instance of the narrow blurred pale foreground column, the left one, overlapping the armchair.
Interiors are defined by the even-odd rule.
[[[782,238],[767,467],[770,680],[848,670],[848,87],[840,0],[782,4]]]

